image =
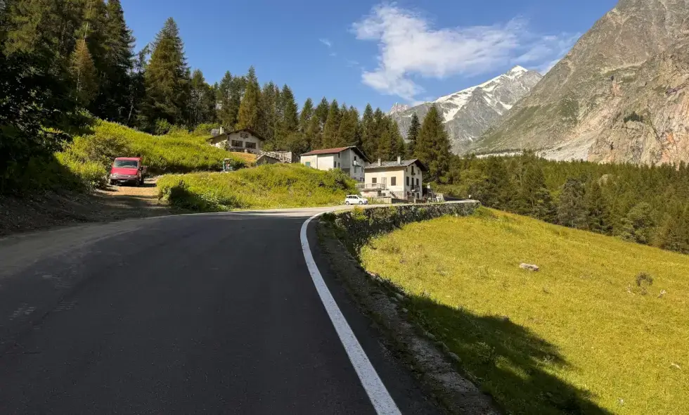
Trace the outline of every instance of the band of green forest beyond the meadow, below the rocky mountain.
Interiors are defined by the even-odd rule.
[[[453,156],[436,189],[491,208],[689,254],[689,168]],[[554,196],[558,196],[553,200]]]

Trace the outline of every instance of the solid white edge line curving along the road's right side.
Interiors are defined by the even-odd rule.
[[[383,385],[380,380],[380,376],[378,376],[378,373],[373,368],[368,356],[366,356],[366,352],[363,351],[361,344],[359,344],[359,340],[356,340],[354,331],[352,331],[352,328],[347,323],[340,307],[337,307],[337,302],[335,302],[333,295],[330,293],[330,290],[328,290],[326,281],[323,281],[323,276],[318,270],[316,261],[314,261],[314,255],[311,253],[309,239],[307,238],[307,229],[309,228],[311,220],[321,215],[323,214],[319,213],[307,219],[307,221],[302,224],[302,230],[300,232],[304,260],[307,262],[311,279],[314,281],[314,286],[316,286],[316,291],[318,291],[318,295],[321,297],[321,302],[323,302],[323,306],[326,307],[328,317],[330,317],[330,321],[333,322],[333,326],[335,326],[335,331],[337,331],[337,336],[340,337],[342,345],[345,346],[349,361],[352,362],[352,366],[354,366],[354,370],[359,376],[361,385],[363,389],[366,390],[366,394],[371,400],[373,408],[375,408],[375,411],[380,415],[401,414],[397,408],[397,404],[395,404],[392,396],[390,396],[387,388],[385,388],[385,385]]]

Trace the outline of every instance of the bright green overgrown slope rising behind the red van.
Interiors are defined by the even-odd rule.
[[[236,168],[243,158],[215,148],[202,136],[174,132],[152,136],[112,122],[97,121],[91,134],[76,136],[65,151],[56,154],[60,165],[91,186],[105,185],[112,159],[140,155],[151,174],[217,171],[225,158]]]

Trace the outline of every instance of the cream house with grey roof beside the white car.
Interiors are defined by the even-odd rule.
[[[401,200],[420,199],[423,196],[423,172],[426,167],[419,160],[373,162],[364,170],[365,180],[359,186],[366,197],[392,197]]]

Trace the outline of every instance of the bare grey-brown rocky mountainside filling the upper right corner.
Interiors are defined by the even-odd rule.
[[[689,0],[620,0],[472,151],[689,160]]]

